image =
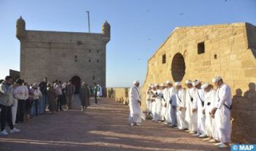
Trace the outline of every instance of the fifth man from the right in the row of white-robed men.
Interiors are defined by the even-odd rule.
[[[177,103],[177,127],[179,130],[187,128],[185,123],[185,101],[186,91],[181,86],[181,82],[175,82],[176,86],[176,103]]]

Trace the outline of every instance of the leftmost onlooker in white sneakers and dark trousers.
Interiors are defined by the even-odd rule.
[[[5,130],[5,122],[10,126],[10,133],[19,132],[13,127],[12,123],[12,77],[5,77],[4,82],[0,85],[0,105],[1,105],[1,132],[0,135],[8,135]]]

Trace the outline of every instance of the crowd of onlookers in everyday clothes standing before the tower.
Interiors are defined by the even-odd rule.
[[[18,79],[12,82],[12,77],[5,77],[5,80],[0,80],[0,135],[6,136],[9,133],[19,132],[20,130],[14,128],[14,125],[43,115],[46,111],[53,114],[63,111],[63,106],[72,109],[74,96],[75,86],[72,85],[71,80],[69,82],[55,80],[50,84],[45,77],[43,82],[29,85],[24,80]],[[85,82],[82,82],[78,96],[81,111],[85,111],[90,106],[90,96],[94,96],[95,104],[97,104],[97,99],[102,96],[102,87],[94,83],[94,87],[90,88]],[[5,128],[6,123],[10,127],[9,133]]]

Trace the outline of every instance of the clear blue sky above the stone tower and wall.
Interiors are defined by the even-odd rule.
[[[248,22],[256,25],[256,0],[0,0],[0,79],[20,69],[15,22],[26,29],[100,33],[111,26],[107,86],[129,87],[146,78],[147,61],[176,26]]]

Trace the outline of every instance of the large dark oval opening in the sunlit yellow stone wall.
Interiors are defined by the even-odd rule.
[[[173,57],[172,66],[170,69],[175,82],[180,82],[183,79],[185,69],[186,66],[183,55],[181,55],[181,53],[176,53],[176,55]]]

